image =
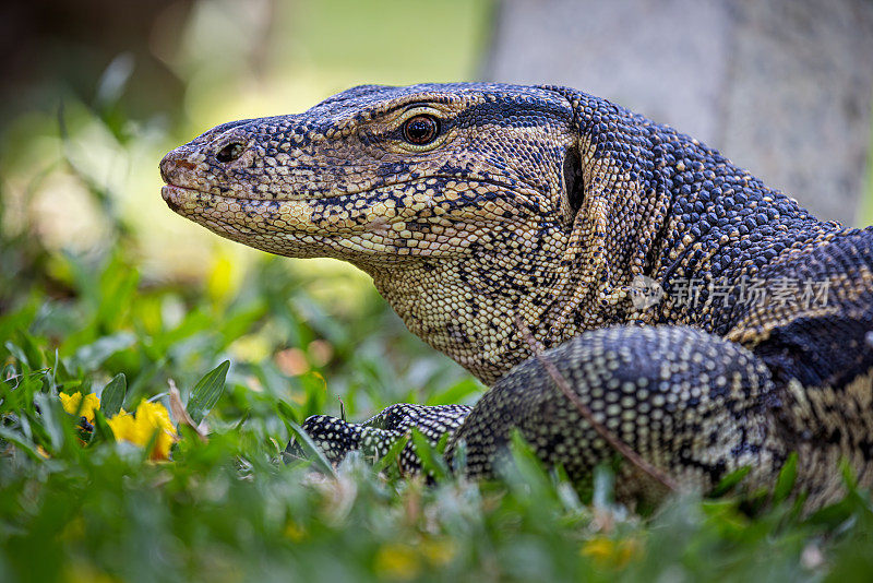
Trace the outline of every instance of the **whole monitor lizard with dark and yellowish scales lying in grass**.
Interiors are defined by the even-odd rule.
[[[439,132],[409,142],[410,119]],[[414,405],[309,419],[332,460],[379,455],[411,425],[452,433],[450,453],[463,437],[476,474],[511,426],[574,476],[614,455],[525,362],[521,314],[607,427],[682,484],[742,464],[766,484],[788,451],[811,505],[838,491],[840,457],[873,484],[873,233],[817,221],[670,128],[566,87],[368,85],[214,128],[160,170],[174,211],[354,263],[409,330],[493,384],[459,429],[466,409]],[[634,306],[641,276],[661,301]],[[766,297],[745,297],[752,281]],[[780,300],[791,281],[827,299]]]

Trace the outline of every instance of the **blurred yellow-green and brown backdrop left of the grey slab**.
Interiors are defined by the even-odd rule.
[[[4,229],[27,225],[51,249],[83,251],[111,238],[108,211],[159,278],[251,255],[168,212],[158,160],[212,126],[301,111],[351,85],[475,78],[493,5],[407,4],[5,3]]]

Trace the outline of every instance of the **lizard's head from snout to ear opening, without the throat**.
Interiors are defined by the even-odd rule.
[[[160,162],[164,199],[288,257],[372,271],[467,254],[491,229],[553,222],[570,203],[566,100],[483,87],[361,86],[300,115],[218,126]]]

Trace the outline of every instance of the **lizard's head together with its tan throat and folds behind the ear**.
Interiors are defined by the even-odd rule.
[[[642,264],[625,240],[639,189],[586,136],[586,107],[549,87],[355,87],[174,150],[163,197],[229,239],[351,262],[414,333],[491,382],[528,355],[515,313],[555,344],[603,323]]]

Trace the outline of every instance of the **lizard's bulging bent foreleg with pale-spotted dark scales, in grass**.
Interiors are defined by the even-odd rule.
[[[737,344],[687,326],[618,326],[587,332],[542,357],[600,424],[685,485],[704,488],[743,465],[772,467],[784,459],[766,415],[779,405],[769,372]],[[468,472],[493,475],[513,427],[571,478],[615,457],[537,359],[476,404],[447,454],[463,441]],[[756,472],[752,479],[768,477]]]

